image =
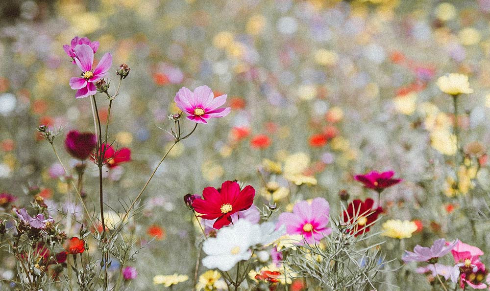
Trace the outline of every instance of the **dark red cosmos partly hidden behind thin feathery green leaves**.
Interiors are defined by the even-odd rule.
[[[368,198],[366,201],[354,200],[350,202],[347,210],[343,212],[343,222],[356,224],[350,230],[351,234],[358,236],[369,231],[371,224],[378,219],[378,215],[383,212],[383,208],[373,209],[374,200]],[[355,221],[354,221],[355,220]]]

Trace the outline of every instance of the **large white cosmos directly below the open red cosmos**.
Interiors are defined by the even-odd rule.
[[[250,259],[250,246],[268,245],[283,235],[285,229],[275,230],[273,223],[252,224],[245,219],[223,227],[216,238],[208,238],[202,250],[208,255],[202,265],[208,269],[228,271],[238,262]]]

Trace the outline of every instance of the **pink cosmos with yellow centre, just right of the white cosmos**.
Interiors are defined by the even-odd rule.
[[[323,198],[315,198],[311,202],[299,201],[294,204],[293,213],[284,212],[279,216],[280,225],[286,225],[288,234],[303,235],[308,244],[319,242],[332,233],[328,227],[330,205]]]

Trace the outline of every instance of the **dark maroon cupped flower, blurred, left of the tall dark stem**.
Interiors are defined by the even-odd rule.
[[[65,148],[75,158],[84,160],[92,154],[97,145],[97,136],[92,133],[79,133],[70,131],[66,135]]]

